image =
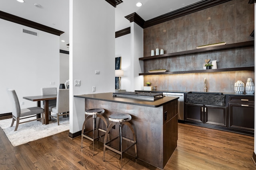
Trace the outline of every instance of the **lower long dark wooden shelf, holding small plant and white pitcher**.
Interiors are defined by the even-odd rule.
[[[204,72],[225,72],[225,71],[243,71],[251,70],[254,71],[254,66],[252,67],[238,67],[238,68],[218,68],[218,69],[208,69],[208,70],[189,70],[189,71],[168,71],[168,72],[158,72],[158,73],[140,73],[139,75],[157,75],[157,74],[187,74],[187,73],[204,73]]]

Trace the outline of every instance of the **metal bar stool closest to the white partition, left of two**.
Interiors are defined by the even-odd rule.
[[[102,114],[104,112],[105,112],[104,109],[98,109],[98,108],[88,109],[85,111],[85,116],[87,115],[87,117],[84,119],[84,124],[82,127],[81,148],[83,148],[83,137],[91,140],[93,143],[93,155],[94,155],[94,141],[98,140],[100,137],[103,137],[106,134],[106,130],[98,128],[97,117],[102,119],[102,121],[104,121],[104,123],[106,125],[106,129],[108,128],[108,123],[107,123],[106,119],[102,116]],[[91,117],[93,118],[92,130],[84,132],[86,123]],[[94,131],[96,131],[96,137],[95,137]],[[98,131],[102,131],[105,134],[99,136]],[[92,136],[88,135],[88,133],[90,133],[90,132],[92,132]]]

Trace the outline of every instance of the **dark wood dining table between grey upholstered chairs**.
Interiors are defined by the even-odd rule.
[[[23,97],[23,99],[30,100],[32,102],[37,102],[37,106],[41,107],[41,101],[44,101],[44,123],[46,125],[49,124],[49,100],[56,100],[57,94],[53,95],[42,95],[42,96],[27,96]],[[37,117],[39,117],[37,115]]]

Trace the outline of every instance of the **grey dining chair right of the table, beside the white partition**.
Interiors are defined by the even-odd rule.
[[[56,113],[56,117],[51,115],[50,112]],[[57,119],[58,125],[59,116],[69,114],[69,89],[59,89],[57,93],[57,102],[55,106],[49,106],[50,117]]]

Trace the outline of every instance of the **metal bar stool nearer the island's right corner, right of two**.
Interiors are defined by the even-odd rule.
[[[109,121],[112,121],[110,123],[110,125],[108,126],[108,129],[106,131],[106,133],[108,134],[110,129],[112,129],[113,126],[115,125],[119,125],[119,136],[115,137],[114,139],[107,141],[107,136],[105,136],[104,138],[104,153],[103,153],[103,161],[105,161],[105,151],[106,148],[118,153],[121,155],[121,166],[122,166],[122,153],[125,152],[126,150],[128,150],[130,147],[134,146],[135,148],[135,158],[137,158],[137,144],[136,144],[136,136],[135,136],[135,132],[134,129],[132,128],[132,125],[128,122],[132,119],[132,116],[126,113],[118,113],[118,114],[113,114],[110,115],[110,117],[108,118]],[[133,140],[128,139],[126,137],[122,136],[122,124],[127,125],[133,134]],[[119,138],[119,150],[115,149],[114,147],[110,146],[110,143],[116,139]],[[122,139],[129,141],[132,143],[132,145],[130,145],[129,147],[127,147],[126,149],[123,150],[122,148]]]

